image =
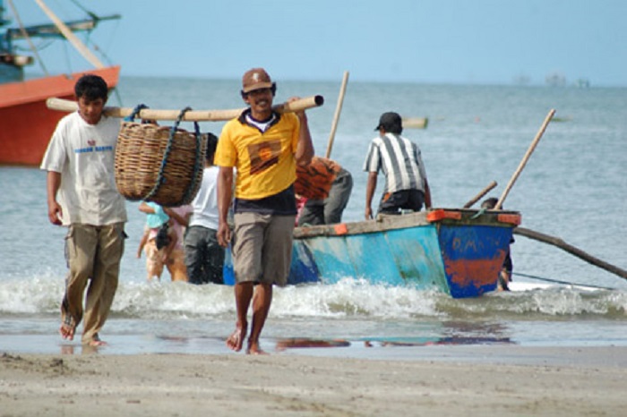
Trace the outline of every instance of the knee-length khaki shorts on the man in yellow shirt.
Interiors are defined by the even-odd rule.
[[[233,268],[236,282],[286,285],[296,216],[236,213]]]

